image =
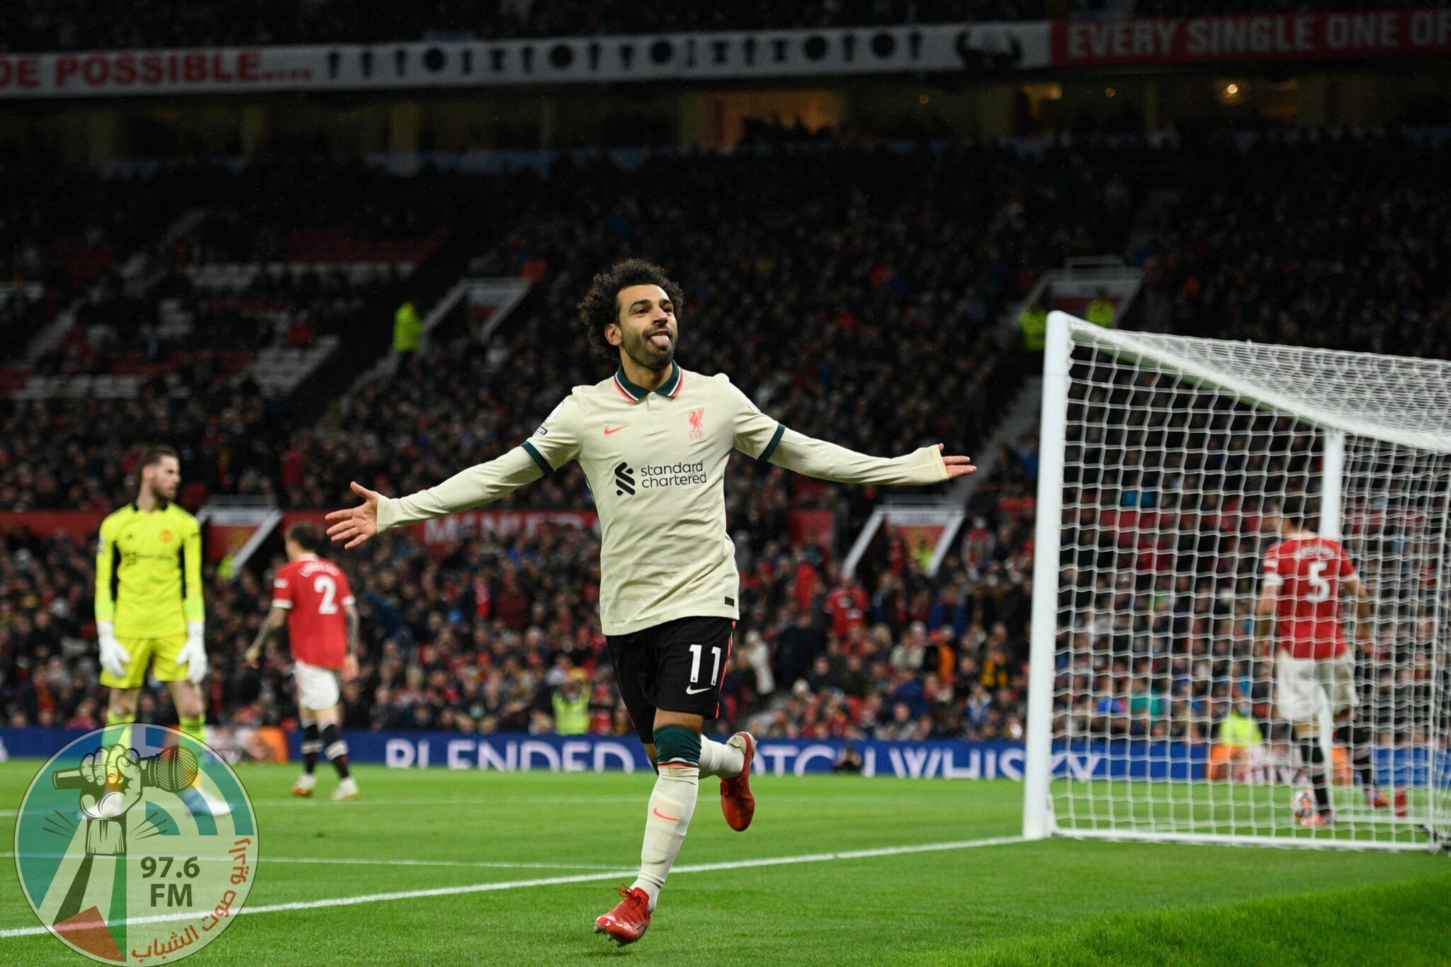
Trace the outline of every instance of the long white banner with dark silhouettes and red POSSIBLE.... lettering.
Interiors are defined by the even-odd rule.
[[[657,33],[0,54],[0,97],[115,97],[776,78],[985,74],[1049,65],[1049,25]]]

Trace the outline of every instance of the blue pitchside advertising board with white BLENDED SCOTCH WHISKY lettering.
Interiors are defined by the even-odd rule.
[[[86,729],[0,728],[0,761],[46,758]],[[302,758],[302,732],[207,726],[207,744],[229,763],[286,763]],[[546,773],[647,773],[650,760],[631,735],[527,735],[495,732],[347,732],[348,760],[389,768],[454,768]],[[856,763],[847,765],[847,750]],[[1022,742],[884,742],[875,739],[762,739],[756,771],[770,776],[850,771],[898,779],[1023,779]],[[1441,751],[1438,768],[1451,768]],[[1387,786],[1426,786],[1431,752],[1425,747],[1378,748],[1376,770]],[[1053,779],[1091,781],[1139,779],[1204,781],[1210,747],[1190,742],[1094,739],[1053,745]],[[840,768],[839,768],[840,765]],[[1280,770],[1249,781],[1296,781],[1297,770]]]

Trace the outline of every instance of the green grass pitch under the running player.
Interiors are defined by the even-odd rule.
[[[39,761],[0,765],[0,829]],[[241,768],[263,855],[248,908],[448,890],[239,916],[197,964],[1364,964],[1447,963],[1451,858],[1051,839],[1019,834],[1010,781],[753,780],[731,832],[715,780],[646,937],[592,932],[638,858],[650,777],[357,768],[364,799],[287,794],[292,767]],[[814,857],[808,861],[781,860]],[[770,866],[692,868],[755,860]],[[0,963],[74,964],[12,870]],[[530,884],[583,877],[583,881]]]

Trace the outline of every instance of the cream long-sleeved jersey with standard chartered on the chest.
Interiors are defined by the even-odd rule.
[[[737,618],[736,547],[726,534],[726,462],[740,451],[800,474],[858,484],[948,478],[934,447],[868,457],[786,429],[726,375],[672,364],[656,390],[624,370],[576,386],[534,436],[437,487],[377,505],[379,532],[467,510],[579,461],[599,509],[599,619],[627,635],[675,618]]]

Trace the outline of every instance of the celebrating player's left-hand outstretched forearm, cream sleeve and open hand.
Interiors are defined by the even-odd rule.
[[[328,536],[334,544],[353,549],[373,536],[405,523],[431,520],[460,510],[493,503],[524,484],[544,476],[540,458],[534,457],[527,444],[483,464],[476,464],[457,473],[437,487],[419,490],[406,497],[385,497],[376,490],[354,483],[353,493],[363,503],[348,510],[334,510],[328,515]],[[547,465],[547,464],[546,464]]]

